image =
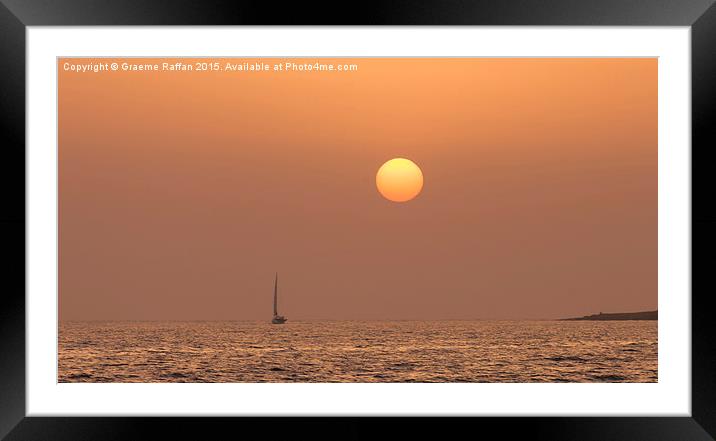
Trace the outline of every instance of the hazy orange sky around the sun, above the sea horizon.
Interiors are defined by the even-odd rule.
[[[58,61],[61,320],[266,320],[275,271],[289,320],[657,306],[656,59],[63,68],[124,61],[178,60]]]

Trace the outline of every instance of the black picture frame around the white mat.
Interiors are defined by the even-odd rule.
[[[706,161],[716,146],[714,0],[400,0],[383,3],[173,0],[0,0],[0,437],[25,439],[214,438],[212,434],[338,439],[378,434],[405,439],[497,433],[500,439],[716,439],[716,321],[707,307],[714,284],[716,199]],[[692,87],[692,406],[691,417],[156,418],[25,416],[25,35],[27,26],[117,25],[558,25],[690,26]],[[711,203],[710,203],[711,202]],[[696,239],[698,236],[698,240]],[[237,397],[237,399],[240,399]],[[381,428],[376,427],[380,422]],[[385,424],[389,423],[389,424]],[[397,423],[397,424],[395,424]],[[436,424],[437,423],[437,424]],[[380,431],[379,431],[380,430]],[[494,432],[497,430],[497,432]],[[283,435],[279,435],[283,436]],[[464,435],[459,435],[464,436]],[[490,436],[492,439],[492,436]]]

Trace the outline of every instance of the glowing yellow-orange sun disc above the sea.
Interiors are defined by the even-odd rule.
[[[394,158],[380,166],[375,185],[389,201],[407,202],[423,189],[423,172],[410,159]]]

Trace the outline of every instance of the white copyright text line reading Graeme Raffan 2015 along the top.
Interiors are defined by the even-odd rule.
[[[246,60],[206,59],[191,62],[181,60],[117,60],[117,61],[64,61],[60,69],[80,74],[101,74],[112,72],[236,72],[236,73],[312,73],[312,72],[357,72],[358,63],[324,62],[320,60]]]

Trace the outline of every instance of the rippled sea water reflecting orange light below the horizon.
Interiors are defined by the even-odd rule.
[[[59,382],[656,382],[656,321],[64,322]]]

